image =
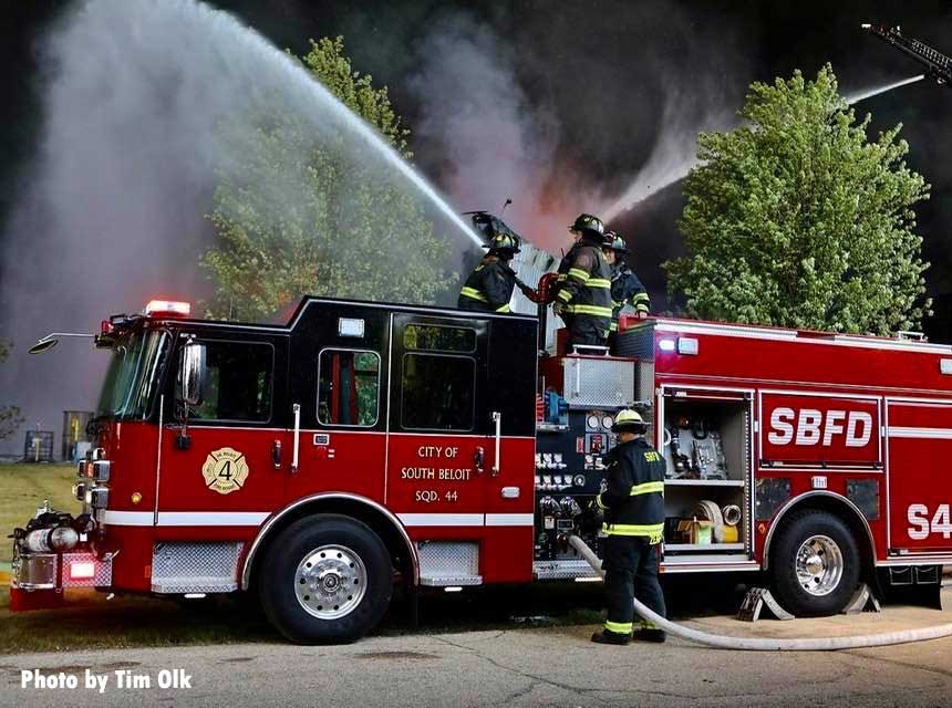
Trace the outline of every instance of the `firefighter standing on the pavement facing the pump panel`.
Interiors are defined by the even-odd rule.
[[[648,426],[634,410],[621,410],[612,431],[618,445],[606,459],[604,491],[596,506],[604,511],[604,629],[599,644],[628,644],[629,638],[664,642],[664,632],[640,620],[632,633],[632,597],[665,616],[658,562],[664,535],[664,459],[644,437]]]

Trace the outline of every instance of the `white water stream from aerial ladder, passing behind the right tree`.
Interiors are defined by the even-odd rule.
[[[872,96],[878,96],[881,93],[915,83],[917,81],[922,81],[923,79],[925,79],[925,75],[919,74],[918,76],[903,79],[902,81],[886,84],[884,86],[851,93],[846,100],[850,105],[855,105],[860,101],[866,101]],[[705,128],[699,128],[695,131],[695,134],[702,129]],[[687,174],[694,169],[694,167],[697,166],[697,158],[694,156],[693,152],[693,140],[687,142],[686,144],[684,142],[680,142],[677,145],[672,145],[669,139],[671,135],[671,132],[665,132],[662,135],[655,150],[652,152],[651,159],[649,159],[645,167],[639,171],[631,186],[621,197],[610,202],[602,210],[602,215],[606,220],[614,219],[622,211],[633,209],[649,197],[666,189],[675,183],[681,181],[687,177]]]

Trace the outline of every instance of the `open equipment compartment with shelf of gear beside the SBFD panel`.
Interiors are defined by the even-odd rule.
[[[668,560],[748,552],[751,395],[674,389],[660,403]]]

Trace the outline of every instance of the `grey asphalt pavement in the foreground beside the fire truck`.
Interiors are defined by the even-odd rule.
[[[943,595],[952,607],[952,593]],[[685,624],[721,634],[794,637],[950,621],[949,611],[898,606],[822,620],[747,624],[715,616]],[[594,628],[371,637],[348,646],[259,643],[0,655],[0,706],[952,706],[952,638],[767,654],[681,639],[601,646],[588,641]],[[23,670],[38,670],[48,687],[34,674],[23,687]],[[49,687],[60,673],[76,677],[77,686]],[[138,686],[122,687],[121,677]],[[86,680],[94,687],[86,688]],[[170,680],[178,686],[159,685]]]

